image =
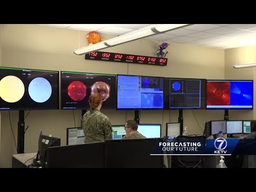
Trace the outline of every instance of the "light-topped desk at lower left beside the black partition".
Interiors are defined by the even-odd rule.
[[[12,168],[27,168],[28,165],[33,163],[33,158],[36,157],[36,154],[37,153],[12,155]]]

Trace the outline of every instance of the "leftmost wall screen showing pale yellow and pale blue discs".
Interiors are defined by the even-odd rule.
[[[59,109],[59,71],[0,67],[0,110]]]

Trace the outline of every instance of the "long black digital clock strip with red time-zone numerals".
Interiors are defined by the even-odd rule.
[[[121,53],[108,53],[108,52],[100,52],[100,51],[94,51],[94,52],[85,54],[85,59],[158,65],[158,66],[167,65],[167,58],[148,57],[148,56],[142,56],[142,55],[121,54]]]

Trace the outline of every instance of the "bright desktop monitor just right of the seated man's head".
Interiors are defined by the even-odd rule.
[[[161,124],[139,124],[138,131],[146,138],[161,138]]]

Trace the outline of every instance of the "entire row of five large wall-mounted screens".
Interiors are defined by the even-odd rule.
[[[60,71],[61,109],[253,109],[253,80],[206,80]],[[0,110],[59,109],[59,72],[0,67]]]

